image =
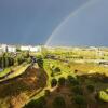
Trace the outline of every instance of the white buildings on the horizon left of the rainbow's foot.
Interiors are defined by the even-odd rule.
[[[41,46],[21,45],[18,46],[18,49],[21,51],[41,52]],[[0,44],[0,53],[3,52],[15,53],[16,51],[17,51],[16,45]]]

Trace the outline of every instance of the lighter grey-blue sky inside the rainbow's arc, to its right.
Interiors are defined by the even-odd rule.
[[[108,0],[90,0],[73,11],[46,44],[108,46]]]

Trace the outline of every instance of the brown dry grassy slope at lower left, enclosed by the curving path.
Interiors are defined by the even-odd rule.
[[[19,77],[0,83],[0,108],[21,108],[45,86],[44,70],[28,68]]]

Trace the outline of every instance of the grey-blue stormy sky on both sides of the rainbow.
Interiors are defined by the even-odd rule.
[[[90,1],[0,0],[0,43],[44,44],[72,12]],[[108,0],[96,1],[99,3],[69,18],[53,35],[51,42],[57,45],[108,45]]]

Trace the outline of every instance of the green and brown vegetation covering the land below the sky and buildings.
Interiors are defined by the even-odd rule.
[[[14,97],[18,103],[27,97],[26,100],[29,103],[25,105],[25,108],[71,108],[71,106],[73,108],[107,108],[108,67],[95,60],[102,57],[107,60],[108,50],[103,56],[86,49],[50,50],[44,46],[41,54],[17,52],[14,57],[12,54],[0,57],[0,68],[3,68],[0,77],[4,77],[11,68],[23,66],[23,64],[31,64],[29,68],[36,70],[28,70],[24,77],[19,75],[17,80],[13,83],[9,81],[8,85],[0,84],[2,98]],[[17,71],[16,69],[13,78],[21,70]],[[5,92],[5,90],[9,91]],[[10,103],[13,105],[12,102]],[[25,104],[25,102],[22,103]]]

